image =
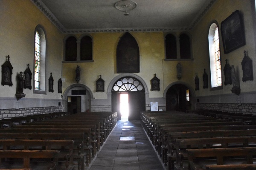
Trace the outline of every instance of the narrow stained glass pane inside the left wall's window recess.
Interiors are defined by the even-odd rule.
[[[35,89],[40,89],[40,36],[35,33]]]

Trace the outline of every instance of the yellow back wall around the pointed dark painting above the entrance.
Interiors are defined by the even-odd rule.
[[[130,32],[140,48],[140,73],[136,73],[146,83],[149,97],[163,97],[163,91],[172,82],[178,81],[176,65],[180,61],[164,61],[164,33],[163,32]],[[93,60],[94,62],[63,63],[63,89],[76,83],[76,65],[81,67],[81,84],[86,85],[93,92],[95,99],[107,99],[107,94],[96,93],[96,80],[99,75],[105,80],[105,92],[111,80],[116,77],[116,46],[124,33],[93,33]],[[76,34],[77,38],[81,35]],[[182,78],[192,84],[193,61],[181,61],[183,67]],[[185,69],[189,68],[189,69]],[[164,74],[163,74],[164,73]],[[150,80],[157,74],[160,79],[160,91],[150,91]]]

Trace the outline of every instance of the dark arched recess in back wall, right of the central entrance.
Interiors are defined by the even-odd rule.
[[[186,90],[189,90],[189,101],[184,101],[187,97]],[[168,85],[163,97],[166,99],[166,111],[185,111],[195,108],[195,91],[185,82],[178,81]]]

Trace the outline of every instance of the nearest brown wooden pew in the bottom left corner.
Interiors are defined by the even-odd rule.
[[[59,151],[57,150],[0,150],[0,158],[20,158],[23,159],[20,166],[23,168],[30,168],[31,162],[30,159],[53,159],[50,163],[50,167],[47,168],[48,170],[57,170],[58,168],[58,155]],[[10,166],[9,163],[7,163]],[[1,162],[1,168],[4,168],[3,161]],[[34,169],[32,167],[32,169]],[[39,170],[38,167],[36,167]],[[44,164],[45,169],[45,164]]]

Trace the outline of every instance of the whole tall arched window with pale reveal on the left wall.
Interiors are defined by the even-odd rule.
[[[46,94],[46,34],[44,28],[38,25],[34,34],[34,83],[33,92]]]

